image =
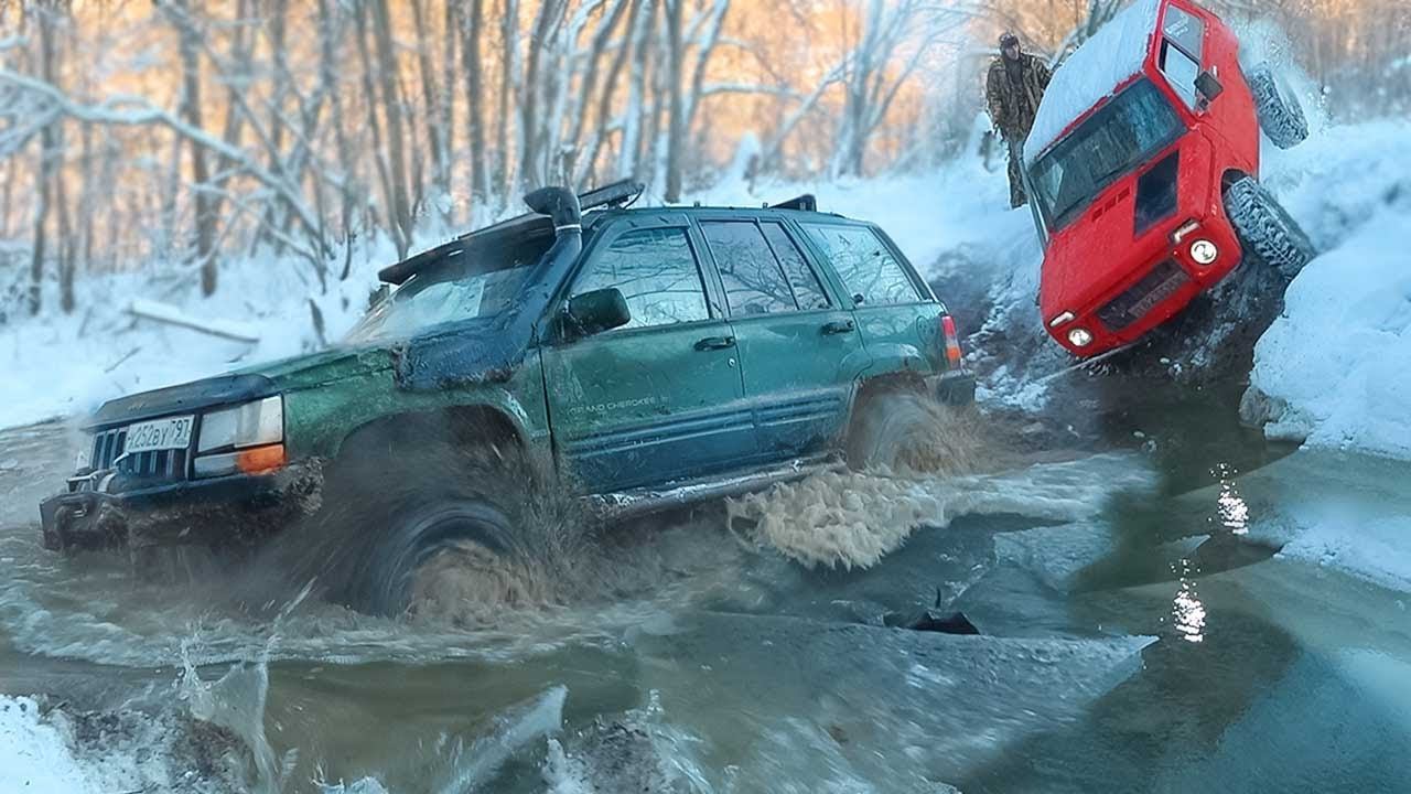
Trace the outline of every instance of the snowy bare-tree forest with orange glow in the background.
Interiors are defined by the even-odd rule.
[[[0,300],[154,267],[212,294],[251,256],[327,284],[543,184],[914,172],[975,144],[1000,30],[1058,61],[1123,4],[0,0]],[[1333,117],[1411,110],[1403,0],[1206,4],[1281,28]]]

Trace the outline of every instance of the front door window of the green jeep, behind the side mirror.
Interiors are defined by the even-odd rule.
[[[684,227],[635,229],[593,254],[573,283],[573,295],[617,287],[632,319],[646,328],[710,319],[706,285]]]

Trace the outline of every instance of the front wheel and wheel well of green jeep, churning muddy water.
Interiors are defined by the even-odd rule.
[[[310,578],[333,600],[388,617],[419,613],[423,600],[460,610],[454,619],[523,603],[519,530],[533,478],[504,446],[426,441],[347,456],[316,517]]]

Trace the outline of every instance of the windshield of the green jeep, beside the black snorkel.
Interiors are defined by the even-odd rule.
[[[552,239],[518,243],[498,250],[467,247],[418,271],[378,301],[353,326],[347,342],[406,339],[436,325],[509,311]]]

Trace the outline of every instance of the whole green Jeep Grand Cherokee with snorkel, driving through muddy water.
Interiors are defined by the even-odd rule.
[[[398,612],[446,544],[514,552],[535,489],[614,511],[739,493],[840,463],[878,390],[972,400],[945,307],[875,225],[811,196],[626,209],[639,191],[535,191],[382,270],[334,349],[106,403],[44,545],[334,523],[349,603]]]

